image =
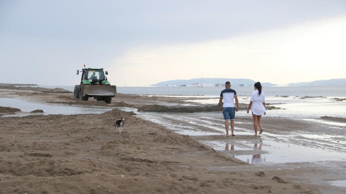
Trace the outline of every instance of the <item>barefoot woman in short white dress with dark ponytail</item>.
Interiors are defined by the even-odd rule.
[[[254,119],[255,136],[257,136],[257,124],[260,126],[260,133],[263,132],[261,116],[265,115],[265,95],[262,92],[261,83],[257,82],[254,85],[255,91],[251,93],[251,99],[249,107],[247,108],[247,113],[249,113],[250,107],[252,112],[252,117]]]

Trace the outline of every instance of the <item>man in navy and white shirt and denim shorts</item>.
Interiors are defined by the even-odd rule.
[[[225,119],[225,128],[226,128],[226,135],[228,136],[228,120],[231,121],[231,135],[234,135],[234,118],[236,115],[236,111],[238,111],[239,103],[238,103],[238,97],[237,93],[234,89],[231,89],[231,83],[229,81],[226,81],[224,90],[221,91],[220,94],[220,100],[219,100],[219,106],[220,110],[222,111],[222,114],[224,115]],[[222,99],[224,99],[224,105],[222,106]],[[234,100],[236,100],[236,107],[234,107]]]

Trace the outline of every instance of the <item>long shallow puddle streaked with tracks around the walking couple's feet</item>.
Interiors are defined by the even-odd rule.
[[[178,134],[203,136],[197,140],[217,152],[224,152],[254,165],[346,161],[346,149],[342,145],[345,138],[338,135],[299,130],[290,135],[266,132],[254,138],[251,135],[253,129],[235,127],[236,136],[227,138],[224,137],[225,128],[220,122],[220,114],[138,113],[137,116]],[[237,121],[235,125],[237,126]]]

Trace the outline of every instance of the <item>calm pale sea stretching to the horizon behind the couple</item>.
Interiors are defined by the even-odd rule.
[[[74,86],[38,87],[74,90]],[[253,87],[232,88],[237,91],[239,103],[249,103]],[[223,89],[224,87],[117,87],[117,92],[137,95],[194,96],[198,99],[186,99],[186,101],[217,104]],[[280,110],[268,110],[267,116],[307,119],[321,116],[346,118],[346,100],[336,101],[334,99],[346,99],[346,86],[263,87],[263,91],[266,95],[266,103],[281,108]],[[305,96],[313,98],[302,98]],[[242,111],[237,113],[239,116],[242,114],[246,115]]]

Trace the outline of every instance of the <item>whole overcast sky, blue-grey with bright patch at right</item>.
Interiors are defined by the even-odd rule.
[[[0,83],[346,78],[345,0],[0,0]]]

